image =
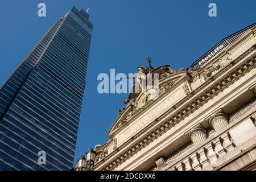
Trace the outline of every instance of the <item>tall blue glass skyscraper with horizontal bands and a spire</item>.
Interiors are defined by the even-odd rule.
[[[72,168],[93,29],[88,18],[72,7],[1,86],[1,170]],[[46,164],[38,163],[43,154]]]

